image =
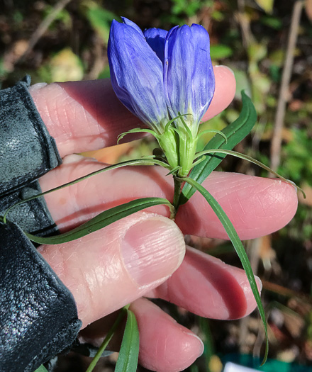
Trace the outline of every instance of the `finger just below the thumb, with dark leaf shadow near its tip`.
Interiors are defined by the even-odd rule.
[[[260,279],[256,281],[261,290]],[[220,320],[245,317],[257,306],[243,269],[190,247],[179,269],[147,295]]]

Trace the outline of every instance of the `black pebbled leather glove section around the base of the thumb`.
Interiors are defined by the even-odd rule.
[[[72,345],[82,322],[72,293],[16,224],[0,222],[0,241],[0,371],[33,372]]]

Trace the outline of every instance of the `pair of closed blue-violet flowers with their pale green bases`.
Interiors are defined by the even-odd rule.
[[[122,19],[113,21],[108,40],[113,90],[155,133],[172,169],[186,176],[215,89],[209,35],[196,24],[143,33]]]

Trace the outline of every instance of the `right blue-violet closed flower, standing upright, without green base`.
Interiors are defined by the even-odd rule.
[[[197,133],[215,89],[209,35],[204,27],[184,25],[169,31],[165,41],[164,84],[170,115],[174,118],[179,113],[191,113],[186,122],[194,124],[191,130]]]

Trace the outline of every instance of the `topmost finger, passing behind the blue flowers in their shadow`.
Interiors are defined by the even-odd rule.
[[[233,72],[227,67],[214,72],[216,91],[204,120],[223,111],[235,94]],[[116,145],[118,135],[142,125],[118,100],[108,79],[35,84],[30,94],[61,157]]]

